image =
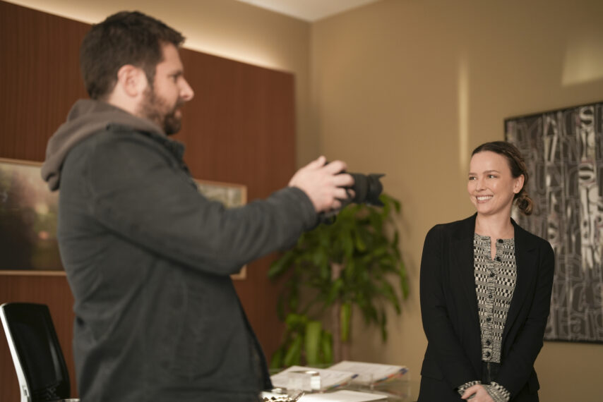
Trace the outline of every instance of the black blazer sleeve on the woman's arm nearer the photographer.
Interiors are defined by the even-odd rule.
[[[450,389],[456,389],[480,377],[474,372],[450,317],[451,306],[448,305],[444,289],[448,286],[444,275],[445,240],[441,232],[441,226],[435,226],[427,233],[421,259],[421,315],[429,342],[422,374],[434,370],[436,366]]]

